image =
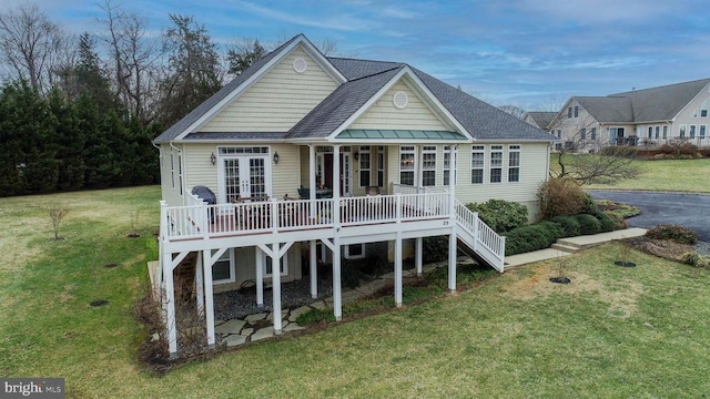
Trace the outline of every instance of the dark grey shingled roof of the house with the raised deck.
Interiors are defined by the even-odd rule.
[[[193,125],[200,117],[207,113],[224,100],[232,91],[244,84],[248,78],[254,75],[268,61],[275,58],[294,40],[305,37],[297,35],[278,49],[268,53],[265,58],[254,63],[232,82],[225,85],[216,94],[202,103],[190,114],[175,123],[158,139],[156,143],[175,140]],[[347,80],[341,84],[333,93],[316,105],[288,132],[283,132],[286,140],[303,139],[325,139],[333,134],[351,116],[358,112],[368,100],[377,94],[387,83],[389,83],[399,72],[408,69],[426,85],[426,89],[438,100],[440,105],[456,119],[474,140],[505,140],[505,141],[554,141],[555,137],[524,121],[489,105],[464,91],[446,84],[406,63],[384,62],[371,60],[356,60],[346,58],[326,58]],[[191,141],[219,140],[244,137],[244,134],[194,134],[191,132],[185,139]],[[271,137],[280,136],[278,132],[273,132]],[[248,135],[250,139],[255,139]],[[265,137],[266,139],[266,137]]]

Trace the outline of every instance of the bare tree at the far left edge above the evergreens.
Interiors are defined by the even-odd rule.
[[[62,50],[68,42],[67,34],[37,4],[0,13],[0,60],[6,75],[26,80],[40,92],[51,86],[52,69],[59,66],[53,63],[67,55]]]

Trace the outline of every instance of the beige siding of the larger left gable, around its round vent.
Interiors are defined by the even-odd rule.
[[[301,57],[307,69],[297,73]],[[285,57],[204,126],[201,132],[285,132],[337,88],[301,47]]]

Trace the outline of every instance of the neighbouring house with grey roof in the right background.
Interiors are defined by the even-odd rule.
[[[687,140],[710,145],[710,79],[633,90],[608,96],[572,96],[547,131],[561,145],[598,150],[602,145],[661,145]]]

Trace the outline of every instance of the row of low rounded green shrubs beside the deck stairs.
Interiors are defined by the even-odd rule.
[[[549,248],[559,238],[606,233],[619,228],[625,228],[623,221],[615,219],[601,211],[592,214],[557,216],[506,233],[506,256]]]

